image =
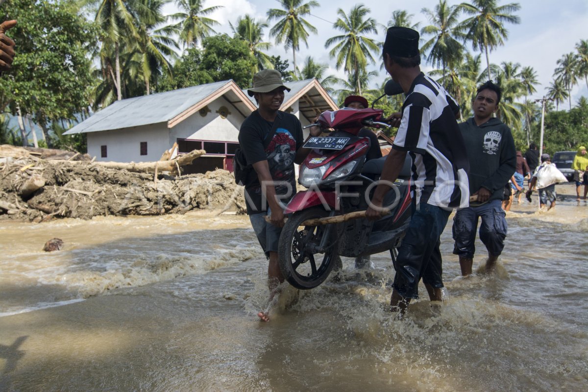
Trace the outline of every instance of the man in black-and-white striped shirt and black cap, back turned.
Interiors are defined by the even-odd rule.
[[[413,29],[392,27],[386,34],[384,65],[392,79],[402,86],[406,99],[380,177],[382,183],[377,186],[367,212],[370,219],[381,216],[389,184],[399,175],[406,153],[410,153],[415,211],[398,250],[390,299],[391,310],[402,313],[410,299],[418,298],[420,279],[429,298],[441,300],[439,237],[453,208],[469,205],[469,161],[456,121],[459,106],[442,86],[420,72],[418,42],[419,33]]]

